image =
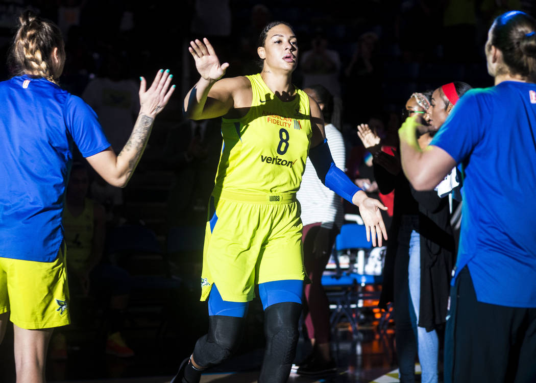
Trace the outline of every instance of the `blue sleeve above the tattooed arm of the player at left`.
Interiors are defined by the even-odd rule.
[[[65,125],[84,157],[93,156],[110,146],[96,113],[76,95],[70,95],[65,104]]]

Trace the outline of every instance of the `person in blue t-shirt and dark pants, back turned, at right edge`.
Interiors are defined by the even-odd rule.
[[[536,381],[536,20],[497,17],[486,42],[495,86],[468,91],[430,146],[399,130],[415,189],[465,170],[463,216],[445,334],[444,381]]]

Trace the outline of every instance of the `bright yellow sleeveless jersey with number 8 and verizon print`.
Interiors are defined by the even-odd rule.
[[[224,139],[215,187],[252,193],[296,192],[311,138],[307,93],[282,102],[260,73],[246,76],[253,98],[241,119],[222,119]]]

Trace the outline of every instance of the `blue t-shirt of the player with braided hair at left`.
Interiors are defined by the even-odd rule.
[[[0,82],[0,257],[51,262],[63,240],[72,144],[110,146],[95,112],[44,78]]]

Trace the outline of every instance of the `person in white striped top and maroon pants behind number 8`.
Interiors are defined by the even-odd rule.
[[[323,85],[311,85],[303,90],[320,107],[325,122],[327,143],[335,165],[344,170],[345,146],[343,135],[331,123],[333,97]],[[297,192],[301,204],[303,224],[303,262],[311,284],[304,287],[304,318],[307,334],[312,345],[311,354],[293,370],[300,375],[316,375],[337,371],[331,356],[331,326],[329,301],[322,286],[322,274],[331,256],[331,249],[340,227],[344,212],[342,198],[322,185],[315,168],[308,158]]]

